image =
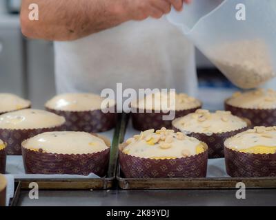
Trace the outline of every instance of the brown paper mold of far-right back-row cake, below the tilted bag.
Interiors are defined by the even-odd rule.
[[[244,109],[224,104],[226,111],[231,111],[233,115],[248,118],[253,126],[274,126],[276,125],[276,109]]]

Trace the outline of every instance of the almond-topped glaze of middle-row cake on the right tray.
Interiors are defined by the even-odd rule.
[[[230,111],[210,113],[208,110],[198,109],[195,113],[177,118],[172,125],[184,133],[221,133],[242,129],[247,123]]]

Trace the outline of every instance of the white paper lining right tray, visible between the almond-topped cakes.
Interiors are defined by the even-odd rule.
[[[137,134],[139,134],[139,131],[133,129],[132,122],[131,122],[131,120],[129,120],[124,141],[128,140],[128,138],[130,138],[130,137],[133,137],[133,135],[137,135]],[[208,178],[229,177],[230,178],[230,176],[226,173],[224,158],[208,159],[208,167],[207,167],[207,176],[206,177],[208,177]]]

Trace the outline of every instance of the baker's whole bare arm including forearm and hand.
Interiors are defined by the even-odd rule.
[[[173,6],[190,0],[23,0],[21,28],[25,36],[71,41],[115,27],[125,21],[160,18]],[[30,21],[31,3],[39,5],[39,21]]]

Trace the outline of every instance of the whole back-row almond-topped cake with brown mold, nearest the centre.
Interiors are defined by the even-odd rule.
[[[138,131],[146,131],[148,129],[161,129],[161,127],[166,127],[167,129],[172,128],[172,120],[163,120],[164,115],[169,115],[175,113],[175,118],[179,118],[184,115],[188,115],[188,113],[192,113],[197,109],[201,109],[202,103],[193,98],[189,97],[186,94],[174,94],[175,104],[173,109],[170,109],[170,113],[166,111],[162,111],[161,109],[161,96],[165,96],[170,98],[170,95],[164,93],[150,94],[150,96],[154,96],[154,104],[157,104],[157,107],[152,107],[151,102],[146,102],[146,108],[141,108],[139,106],[141,101],[145,101],[145,99],[141,99],[138,101],[138,104],[132,104],[132,125]],[[152,112],[146,112],[147,106],[152,110]]]

